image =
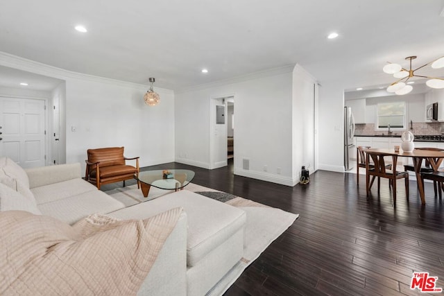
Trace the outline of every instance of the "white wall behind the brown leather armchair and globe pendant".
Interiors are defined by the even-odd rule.
[[[140,166],[174,161],[174,94],[156,89],[157,106],[146,90],[84,79],[67,79],[67,162],[85,162],[88,148],[124,146]],[[73,127],[76,132],[73,132]]]

